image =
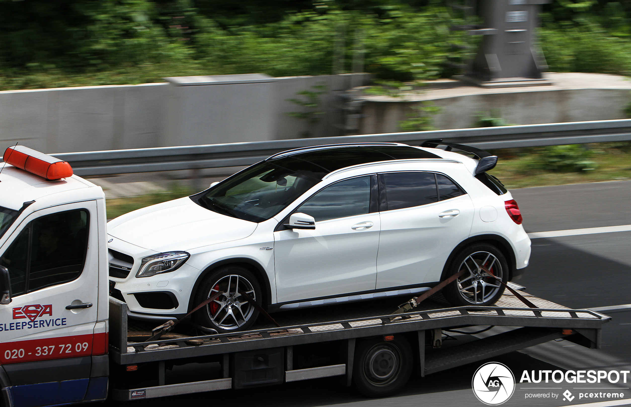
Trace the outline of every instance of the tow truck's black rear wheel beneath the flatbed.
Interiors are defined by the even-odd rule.
[[[410,380],[412,367],[413,353],[403,336],[364,340],[355,350],[353,387],[367,397],[392,396]]]

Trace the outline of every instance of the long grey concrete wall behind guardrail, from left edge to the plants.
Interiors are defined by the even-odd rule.
[[[355,79],[351,79],[355,77]],[[44,152],[187,146],[341,135],[339,93],[368,74],[278,77],[272,83],[169,83],[0,91],[0,155],[19,142]],[[353,83],[351,83],[353,82]],[[288,112],[298,91],[326,84],[312,126]],[[190,114],[190,113],[194,114]]]

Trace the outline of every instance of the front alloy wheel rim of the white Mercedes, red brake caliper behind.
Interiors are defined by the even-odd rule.
[[[222,330],[239,329],[254,313],[254,306],[240,294],[245,292],[256,301],[256,292],[251,282],[240,275],[226,275],[213,284],[208,297],[218,291],[223,291],[223,294],[206,306],[210,320]]]

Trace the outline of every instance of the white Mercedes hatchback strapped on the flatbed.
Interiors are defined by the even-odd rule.
[[[440,144],[464,154],[434,148]],[[208,190],[108,224],[110,295],[141,319],[193,317],[244,330],[268,312],[442,291],[488,306],[521,277],[530,240],[517,203],[485,171],[497,156],[425,142],[336,144],[275,154]]]

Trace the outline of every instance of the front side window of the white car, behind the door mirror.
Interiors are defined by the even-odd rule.
[[[362,176],[327,186],[300,205],[296,212],[311,215],[315,221],[327,221],[367,214],[369,206],[370,176]]]

